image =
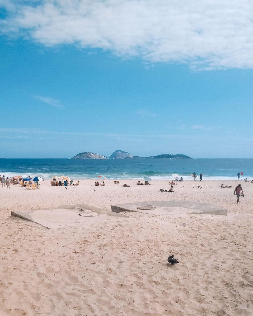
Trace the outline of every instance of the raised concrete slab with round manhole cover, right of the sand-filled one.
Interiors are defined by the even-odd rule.
[[[227,210],[218,206],[194,201],[149,201],[112,205],[113,212],[140,212],[153,215],[174,214],[212,214],[225,215]]]

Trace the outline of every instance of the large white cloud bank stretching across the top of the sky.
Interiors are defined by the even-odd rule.
[[[253,68],[252,0],[5,0],[3,33],[194,69]]]

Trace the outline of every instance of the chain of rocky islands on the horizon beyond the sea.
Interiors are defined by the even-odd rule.
[[[120,150],[117,149],[114,151],[114,153],[112,153],[110,155],[109,158],[100,155],[100,154],[95,154],[95,153],[89,153],[89,152],[84,152],[84,153],[80,153],[75,155],[74,157],[72,157],[72,159],[146,159],[146,158],[191,158],[187,155],[184,154],[161,154],[161,155],[157,155],[157,156],[151,156],[151,157],[140,157],[140,156],[133,156],[130,153],[128,153],[127,151],[124,150]]]

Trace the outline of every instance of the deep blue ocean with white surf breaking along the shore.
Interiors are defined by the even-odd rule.
[[[172,179],[177,173],[184,179],[192,179],[191,173],[203,173],[203,179],[253,179],[253,159],[0,159],[0,174],[40,176],[50,179],[54,175],[66,175],[71,179],[95,179],[104,175],[108,179]]]

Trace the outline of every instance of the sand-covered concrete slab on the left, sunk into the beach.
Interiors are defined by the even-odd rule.
[[[13,216],[40,224],[46,228],[63,228],[69,226],[81,226],[96,221],[99,215],[127,217],[123,214],[99,209],[86,204],[59,206],[55,208],[37,210],[11,211]],[[80,216],[82,215],[82,216]]]

